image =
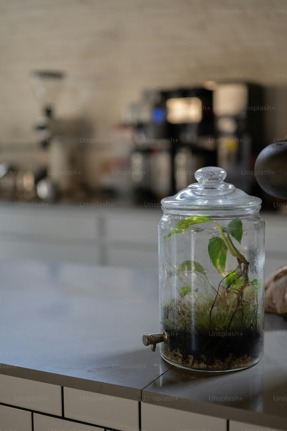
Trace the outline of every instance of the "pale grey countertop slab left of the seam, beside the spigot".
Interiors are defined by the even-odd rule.
[[[157,276],[100,270],[0,261],[0,373],[141,400],[171,367],[142,344],[158,328]]]

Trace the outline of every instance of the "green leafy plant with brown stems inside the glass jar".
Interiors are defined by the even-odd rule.
[[[215,289],[214,286],[211,284],[211,281],[208,279],[204,268],[198,262],[187,260],[181,265],[179,265],[177,272],[178,274],[183,271],[195,272],[196,274],[199,274],[203,278],[205,278],[208,284],[210,284],[212,290],[215,293],[215,298],[212,301],[210,308],[208,308],[210,323],[212,313],[214,315],[215,303],[217,302],[217,300],[221,300],[221,303],[224,304],[224,309],[226,310],[226,312],[224,313],[224,320],[228,321],[228,327],[230,327],[230,324],[237,315],[237,312],[240,313],[241,323],[243,324],[243,320],[245,319],[246,321],[246,315],[244,312],[244,309],[246,307],[243,306],[244,290],[250,284],[255,287],[258,287],[258,284],[256,284],[257,280],[252,280],[249,283],[249,262],[247,262],[243,254],[240,253],[237,247],[235,247],[235,245],[233,244],[234,239],[237,240],[239,244],[241,244],[243,236],[242,222],[240,219],[234,219],[229,223],[227,227],[221,228],[218,222],[211,219],[211,216],[192,215],[178,222],[167,234],[167,236],[164,237],[164,240],[175,234],[185,232],[191,226],[197,225],[199,223],[215,223],[221,235],[221,237],[210,238],[208,243],[208,254],[211,259],[211,262],[218,270],[218,272],[222,275],[222,279],[218,285],[218,289]],[[233,238],[233,240],[231,239],[231,237]],[[225,267],[228,252],[231,254],[231,256],[237,259],[237,267],[232,271],[226,272]],[[191,291],[192,288],[190,286],[183,286],[180,290],[180,297],[184,298],[186,295],[191,293]],[[230,304],[227,301],[228,294],[232,294]],[[215,314],[218,314],[218,312],[216,312]]]

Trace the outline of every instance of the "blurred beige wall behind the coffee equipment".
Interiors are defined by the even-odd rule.
[[[0,155],[21,161],[22,168],[47,159],[37,142],[27,143],[38,138],[34,126],[41,115],[29,79],[33,70],[66,72],[57,118],[84,118],[89,137],[97,138],[83,150],[91,187],[113,154],[110,126],[146,89],[230,78],[263,84],[266,104],[275,106],[266,118],[266,143],[287,133],[281,0],[3,0],[0,14]]]

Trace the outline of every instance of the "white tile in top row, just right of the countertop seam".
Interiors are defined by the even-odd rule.
[[[180,429],[226,431],[227,421],[198,413],[142,403],[142,430],[155,431],[155,429],[157,431],[179,431]]]

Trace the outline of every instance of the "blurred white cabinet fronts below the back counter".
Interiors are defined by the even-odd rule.
[[[31,211],[34,214],[32,219],[29,216]],[[110,215],[110,212],[95,210],[91,213],[87,209],[81,218],[79,209],[74,206],[66,209],[51,206],[31,211],[1,205],[0,257],[142,269],[149,266],[155,270],[158,267],[157,226],[161,211],[115,209],[115,215]],[[43,211],[49,212],[44,219]],[[266,222],[265,276],[268,276],[287,262],[286,216],[263,213],[262,217]],[[76,239],[49,239],[49,233],[76,235]]]

